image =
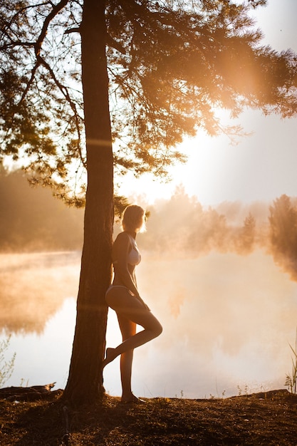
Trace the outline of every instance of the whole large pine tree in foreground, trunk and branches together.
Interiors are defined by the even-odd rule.
[[[184,135],[222,128],[217,108],[296,114],[296,56],[261,46],[249,2],[3,0],[1,156],[32,182],[85,201],[66,398],[102,395],[113,173],[165,175]],[[87,180],[80,180],[80,167]]]

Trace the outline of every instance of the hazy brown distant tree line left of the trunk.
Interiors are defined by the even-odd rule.
[[[30,187],[21,170],[1,170],[0,206],[0,251],[81,249],[83,210]]]

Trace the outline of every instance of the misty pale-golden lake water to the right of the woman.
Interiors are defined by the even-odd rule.
[[[147,259],[138,276],[164,326],[160,338],[135,352],[140,394],[155,395],[156,385],[161,396],[189,398],[234,394],[237,385],[283,387],[297,287],[271,257],[257,251]]]

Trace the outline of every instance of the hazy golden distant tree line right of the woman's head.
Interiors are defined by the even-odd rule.
[[[263,203],[264,207],[268,205]],[[179,188],[169,201],[152,209],[147,222],[150,230],[142,236],[141,243],[162,256],[175,252],[179,257],[204,255],[212,250],[246,255],[254,249],[264,249],[292,279],[297,279],[297,199],[281,195],[269,209],[262,209],[261,222],[251,209],[246,207],[242,221],[233,216],[230,222],[224,213],[212,207],[204,209],[196,198],[188,197]],[[225,210],[228,213],[227,206]],[[237,212],[241,214],[239,206]]]

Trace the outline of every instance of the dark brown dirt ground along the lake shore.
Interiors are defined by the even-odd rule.
[[[31,403],[0,400],[0,445],[297,445],[297,396],[287,390],[144,404],[106,397],[76,409],[58,395]]]

